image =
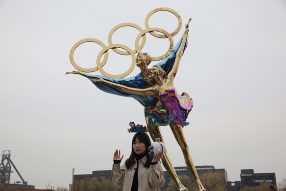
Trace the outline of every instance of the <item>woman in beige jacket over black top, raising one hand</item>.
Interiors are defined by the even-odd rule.
[[[130,157],[120,167],[123,159],[120,150],[114,152],[112,168],[112,181],[117,186],[122,186],[123,191],[159,191],[165,183],[164,174],[159,160],[162,152],[152,159],[148,155],[151,146],[146,133],[136,133],[132,139]]]

